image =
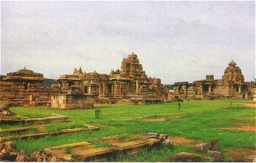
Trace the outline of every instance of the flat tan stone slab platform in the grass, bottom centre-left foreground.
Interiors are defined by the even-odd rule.
[[[132,155],[138,153],[139,150],[148,150],[153,146],[159,146],[161,143],[157,139],[148,139],[143,136],[131,136],[132,139],[141,140],[122,140],[120,138],[127,135],[117,135],[110,137],[103,137],[102,139],[96,140],[96,142],[108,143],[109,147],[93,148],[93,143],[81,142],[73,144],[65,144],[62,146],[52,146],[50,148],[45,148],[54,157],[61,157],[65,160],[70,159],[76,155],[79,157],[81,162],[106,162],[110,159],[114,159],[116,155],[121,152],[125,155]],[[70,153],[67,153],[67,147],[72,148]]]

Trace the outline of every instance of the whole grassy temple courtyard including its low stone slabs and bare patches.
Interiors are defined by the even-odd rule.
[[[99,118],[95,117],[96,109],[101,111]],[[223,153],[223,162],[245,162],[256,152],[255,104],[252,104],[252,100],[184,100],[180,102],[180,109],[178,102],[148,105],[117,102],[95,104],[93,109],[10,107],[10,111],[17,114],[10,117],[24,120],[26,124],[1,124],[2,131],[23,128],[19,129],[22,130],[21,133],[1,132],[1,137],[11,137],[8,139],[14,143],[15,150],[24,150],[28,157],[34,151],[44,150],[52,155],[57,153],[57,158],[66,157],[72,158],[70,161],[81,161],[82,157],[88,158],[81,153],[86,151],[92,155],[98,153],[98,159],[103,161],[173,162],[175,159],[169,157],[180,152],[211,157],[207,151],[196,152],[196,144],[210,145],[211,141],[218,141],[218,148],[215,150]],[[51,123],[39,124],[42,118]],[[44,133],[41,133],[43,131]],[[19,137],[22,134],[40,133],[38,137]],[[153,146],[152,144],[157,144],[157,140],[145,139],[148,133],[168,134],[172,146]],[[61,145],[64,145],[65,150],[62,150]],[[129,146],[132,147],[131,150],[125,150]],[[111,157],[111,150],[108,149],[114,148],[122,152]],[[176,161],[184,162],[177,158]],[[200,160],[193,162],[197,161]]]

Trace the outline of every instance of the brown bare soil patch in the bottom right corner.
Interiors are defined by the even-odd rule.
[[[250,149],[228,149],[224,151],[232,162],[246,162],[246,159],[250,155],[255,155],[256,150]]]

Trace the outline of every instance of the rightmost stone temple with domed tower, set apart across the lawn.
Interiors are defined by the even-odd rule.
[[[234,61],[228,63],[222,79],[214,79],[214,75],[206,75],[200,81],[175,82],[173,97],[180,99],[251,99],[255,82],[244,82],[244,75]]]

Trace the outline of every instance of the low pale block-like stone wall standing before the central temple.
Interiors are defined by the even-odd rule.
[[[53,95],[51,107],[58,109],[88,109],[93,107],[94,98],[90,95]]]

